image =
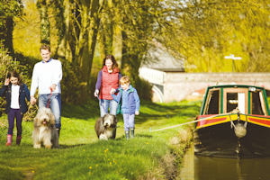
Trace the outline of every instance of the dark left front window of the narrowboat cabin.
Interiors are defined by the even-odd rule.
[[[220,90],[211,91],[209,103],[205,111],[205,114],[218,114],[220,109],[219,107],[220,107]]]

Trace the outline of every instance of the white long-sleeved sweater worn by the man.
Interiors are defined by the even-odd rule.
[[[61,80],[62,65],[59,60],[51,58],[48,62],[40,61],[33,68],[30,95],[33,96],[37,88],[39,88],[39,94],[50,94],[49,87],[53,84],[57,86],[52,93],[61,93]]]

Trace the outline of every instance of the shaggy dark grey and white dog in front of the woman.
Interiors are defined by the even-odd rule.
[[[95,121],[94,130],[98,139],[115,139],[117,119],[115,115],[105,114]]]

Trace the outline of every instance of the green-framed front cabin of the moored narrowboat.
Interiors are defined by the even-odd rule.
[[[252,85],[215,85],[206,90],[201,115],[233,112],[269,115],[266,89]]]

